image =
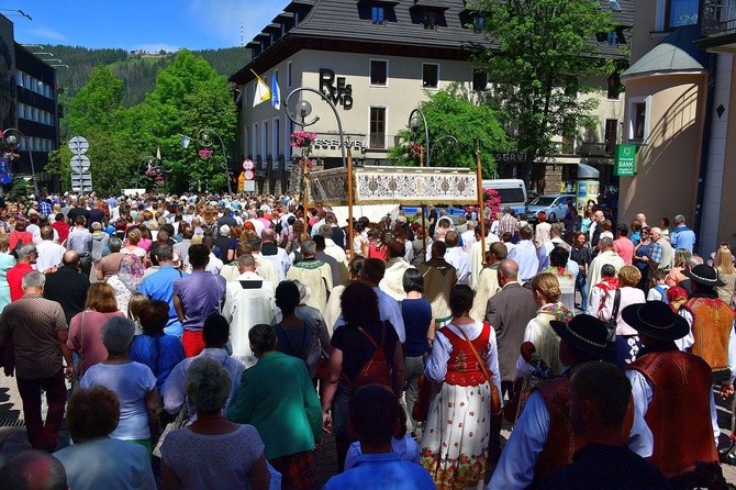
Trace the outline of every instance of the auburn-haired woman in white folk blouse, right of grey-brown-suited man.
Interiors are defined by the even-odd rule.
[[[549,322],[553,320],[569,322],[573,313],[559,302],[560,288],[555,275],[537,274],[531,283],[534,300],[539,309],[537,315],[526,324],[524,342],[534,344],[538,356],[551,368],[553,376],[559,376],[562,371],[562,364],[559,360],[559,336]],[[520,376],[525,376],[532,372],[533,366],[520,357],[516,369]]]

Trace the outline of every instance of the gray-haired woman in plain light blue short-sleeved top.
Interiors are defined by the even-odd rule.
[[[152,442],[160,435],[156,404],[156,377],[148,366],[129,357],[135,324],[127,319],[112,318],[102,325],[102,344],[108,358],[91,366],[79,382],[88,390],[103,386],[120,400],[120,424],[110,437],[142,445],[152,453]]]

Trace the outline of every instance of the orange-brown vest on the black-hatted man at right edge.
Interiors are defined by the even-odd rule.
[[[728,369],[728,335],[734,324],[734,311],[723,301],[692,298],[684,303],[693,316],[691,353],[702,357],[713,371]]]

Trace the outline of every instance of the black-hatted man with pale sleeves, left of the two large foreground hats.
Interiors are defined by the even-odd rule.
[[[665,303],[662,303],[665,304]],[[525,489],[572,463],[583,439],[570,423],[570,376],[588,361],[606,356],[607,331],[595,316],[580,314],[567,323],[553,321],[560,337],[559,358],[564,375],[542,382],[529,396],[511,437],[503,448],[488,490]],[[640,412],[623,428],[628,448],[642,457],[651,455],[651,432]],[[570,444],[570,442],[573,444]]]

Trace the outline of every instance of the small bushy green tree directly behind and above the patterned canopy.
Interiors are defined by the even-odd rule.
[[[493,109],[473,103],[458,85],[430,93],[420,109],[430,129],[433,167],[475,168],[476,151],[480,147],[483,177],[493,175],[493,154],[504,151],[509,144]],[[417,165],[420,147],[423,147],[426,165],[426,141],[421,116],[417,130],[403,130],[399,132],[399,137],[402,143],[390,151],[389,158],[398,165]]]

